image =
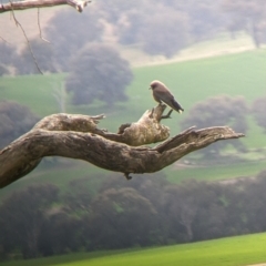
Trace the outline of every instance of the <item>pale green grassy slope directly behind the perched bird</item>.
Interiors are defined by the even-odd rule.
[[[139,120],[143,111],[156,103],[149,91],[150,82],[154,79],[165,82],[177,100],[184,105],[184,115],[173,114],[165,121],[172,133],[178,132],[178,122],[198,101],[209,96],[228,94],[243,95],[248,103],[266,94],[266,50],[254,50],[237,54],[219,55],[194,61],[170,63],[153,66],[135,68],[134,81],[126,89],[129,101],[117,104],[115,111],[106,106],[73,106],[68,101],[66,111],[73,113],[106,113],[108,119],[102,125],[109,125],[115,131],[121,123]],[[0,79],[0,99],[14,100],[27,104],[41,116],[59,112],[53,96],[60,88],[64,74],[30,75]],[[69,100],[69,99],[68,99]],[[100,124],[100,126],[101,126]]]

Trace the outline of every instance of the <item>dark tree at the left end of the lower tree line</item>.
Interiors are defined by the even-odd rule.
[[[20,247],[24,258],[39,255],[39,239],[45,212],[58,201],[54,185],[32,185],[14,192],[0,205],[0,226],[3,248]],[[0,236],[0,238],[1,238]]]

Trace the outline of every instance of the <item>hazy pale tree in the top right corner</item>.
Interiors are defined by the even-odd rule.
[[[229,29],[245,30],[256,48],[265,40],[266,8],[264,0],[224,0],[223,9],[231,16]]]

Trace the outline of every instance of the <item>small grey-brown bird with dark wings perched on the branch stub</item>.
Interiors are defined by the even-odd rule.
[[[175,101],[173,94],[170,92],[170,90],[163,82],[155,80],[151,83],[150,89],[153,90],[154,100],[160,104],[164,102],[178,113],[182,113],[184,111],[184,109],[180,105],[177,101]]]

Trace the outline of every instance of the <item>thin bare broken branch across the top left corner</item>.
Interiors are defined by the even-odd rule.
[[[18,2],[10,1],[9,3],[0,4],[0,13],[32,8],[48,8],[61,4],[69,4],[75,8],[79,12],[82,12],[89,2],[90,0],[28,0]]]

